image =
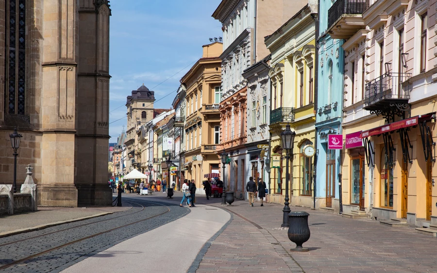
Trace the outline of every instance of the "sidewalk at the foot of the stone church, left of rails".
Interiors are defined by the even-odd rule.
[[[3,215],[0,217],[0,238],[132,209],[128,203],[122,205],[88,208],[38,207],[37,211]]]

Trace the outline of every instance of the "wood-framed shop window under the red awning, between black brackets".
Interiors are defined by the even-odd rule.
[[[393,208],[393,165],[389,163],[386,149],[381,151],[381,207]]]

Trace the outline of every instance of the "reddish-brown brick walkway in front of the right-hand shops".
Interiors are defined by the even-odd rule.
[[[218,199],[197,199],[220,207]],[[373,220],[291,207],[310,214],[311,230],[311,238],[303,244],[310,251],[293,253],[289,250],[295,244],[289,241],[287,229],[280,227],[283,205],[260,207],[255,202],[250,207],[240,200],[233,205],[225,208],[253,224],[234,215],[196,272],[437,272],[437,239],[414,228],[391,228]]]

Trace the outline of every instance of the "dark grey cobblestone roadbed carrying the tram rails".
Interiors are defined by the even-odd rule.
[[[0,266],[57,247],[67,242],[75,241],[102,231],[111,230],[122,225],[131,224],[168,210],[167,207],[149,203],[148,200],[134,200],[133,202],[145,205],[146,209],[141,210],[138,204],[132,203],[134,208],[130,210],[116,212],[114,214],[102,216],[96,219],[88,219],[80,222],[53,226],[39,231],[1,238],[0,246],[7,242],[33,238],[34,236],[48,234],[60,229],[67,229],[62,232],[45,235],[26,241],[18,241],[13,244],[2,245],[2,251],[0,252]],[[175,206],[174,204],[170,203],[167,203],[166,205],[170,207],[170,211],[159,217],[151,218],[134,225],[128,225],[121,229],[115,229],[84,241],[78,241],[66,247],[50,251],[29,261],[4,269],[2,272],[59,272],[88,256],[94,255],[104,249],[109,248],[110,246],[117,244],[118,242],[132,238],[140,233],[147,232],[170,221],[174,221],[175,219],[184,216],[186,213],[189,213],[189,210],[186,208],[180,208],[179,206]],[[131,214],[135,211],[137,213]],[[117,216],[122,217],[101,222],[101,220],[111,219]],[[96,221],[99,221],[99,223],[84,225],[87,223],[94,223]],[[76,227],[78,225],[84,226]]]

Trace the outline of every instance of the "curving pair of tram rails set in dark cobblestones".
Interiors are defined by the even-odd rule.
[[[104,231],[101,231],[101,232],[98,232],[98,233],[95,233],[95,234],[91,234],[91,235],[88,235],[88,236],[85,236],[85,237],[82,237],[82,238],[79,238],[79,239],[76,239],[76,240],[73,240],[73,241],[68,241],[68,242],[63,243],[61,245],[50,247],[49,249],[46,249],[44,251],[40,251],[40,252],[35,253],[33,255],[29,255],[27,257],[19,258],[17,260],[12,261],[12,262],[0,265],[0,271],[4,270],[4,269],[7,269],[7,268],[10,268],[10,267],[15,266],[15,265],[26,263],[27,261],[30,261],[30,260],[32,260],[32,259],[34,259],[36,257],[43,256],[43,255],[48,254],[48,253],[50,253],[52,251],[59,250],[59,249],[62,249],[64,247],[73,245],[75,243],[78,243],[78,242],[81,242],[81,241],[85,241],[85,240],[88,240],[88,239],[91,239],[91,238],[94,238],[94,237],[97,237],[97,236],[100,236],[100,235],[103,235],[103,234],[106,234],[106,233],[110,233],[112,231],[115,231],[115,230],[118,230],[118,229],[121,229],[121,228],[124,228],[124,227],[128,227],[128,226],[131,226],[131,225],[135,225],[135,224],[138,224],[138,223],[150,220],[152,218],[164,215],[164,214],[166,214],[166,213],[171,211],[170,207],[168,207],[166,205],[163,205],[163,204],[160,204],[160,203],[155,203],[155,202],[150,202],[150,201],[146,201],[146,202],[147,203],[152,203],[152,204],[157,204],[157,205],[163,206],[163,207],[165,207],[167,209],[164,212],[160,212],[160,213],[151,215],[151,216],[146,217],[144,219],[140,219],[140,220],[137,220],[137,221],[134,221],[132,223],[125,224],[125,225],[119,225],[119,226],[116,226],[116,227],[113,227],[113,228],[110,228],[110,229],[107,229],[107,230],[104,230]],[[129,202],[129,203],[137,204],[137,205],[141,206],[141,209],[138,210],[138,211],[129,213],[129,214],[124,214],[124,215],[120,215],[120,216],[117,216],[117,217],[112,217],[110,219],[94,221],[92,223],[86,223],[86,224],[82,224],[82,225],[77,225],[77,226],[73,226],[73,227],[69,227],[69,228],[64,228],[64,229],[61,229],[61,230],[57,230],[57,231],[53,231],[53,232],[49,232],[49,233],[45,233],[45,234],[29,237],[29,238],[25,238],[25,239],[21,239],[21,240],[16,240],[16,241],[11,241],[11,242],[7,242],[7,243],[3,243],[3,244],[0,244],[0,246],[13,247],[13,244],[20,243],[20,242],[23,242],[23,241],[30,241],[32,239],[36,239],[36,238],[40,238],[40,237],[44,237],[44,236],[53,235],[53,234],[60,233],[60,232],[63,232],[63,231],[71,231],[72,229],[79,228],[79,227],[84,227],[86,225],[94,225],[94,224],[98,224],[98,223],[101,223],[101,222],[106,222],[106,221],[114,220],[114,219],[117,219],[117,218],[133,215],[133,214],[136,214],[136,213],[139,213],[139,212],[143,211],[146,208],[145,206],[143,206],[143,205],[141,205],[139,203],[135,203],[135,202]]]

